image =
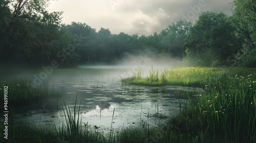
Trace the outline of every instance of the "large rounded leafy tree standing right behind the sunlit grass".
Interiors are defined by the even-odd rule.
[[[229,57],[241,47],[234,30],[223,12],[201,13],[185,39],[187,58],[203,66],[233,64]]]

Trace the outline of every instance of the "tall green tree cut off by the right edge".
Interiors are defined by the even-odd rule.
[[[243,49],[236,57],[239,66],[256,67],[256,1],[234,0],[233,25],[237,28],[237,37],[244,39]]]

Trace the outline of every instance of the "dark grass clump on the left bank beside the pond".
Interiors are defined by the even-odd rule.
[[[29,78],[13,78],[11,80],[0,79],[0,100],[4,101],[5,86],[8,86],[8,107],[9,109],[18,109],[21,106],[27,106],[41,99],[59,98],[58,93],[49,91],[49,83],[44,81],[38,88],[30,88]],[[1,104],[0,111],[3,111],[4,104]]]

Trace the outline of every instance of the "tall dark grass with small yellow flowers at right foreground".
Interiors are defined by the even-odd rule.
[[[196,107],[204,127],[201,142],[256,141],[255,86],[251,75],[236,75],[215,83],[198,98]]]

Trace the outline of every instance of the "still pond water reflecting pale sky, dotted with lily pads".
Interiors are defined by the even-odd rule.
[[[33,75],[39,74],[39,71],[19,72],[15,76],[28,76],[33,80]],[[102,132],[108,133],[111,125],[115,130],[138,126],[143,122],[156,126],[177,115],[185,104],[189,104],[182,96],[183,92],[189,92],[193,96],[202,93],[201,88],[123,84],[121,77],[125,78],[132,72],[130,68],[123,66],[54,69],[41,87],[58,92],[61,98],[42,100],[29,108],[26,107],[14,115],[14,122],[35,127],[62,127],[66,122],[63,103],[69,105],[73,112],[77,97],[81,122],[88,123],[92,128],[97,127]]]

